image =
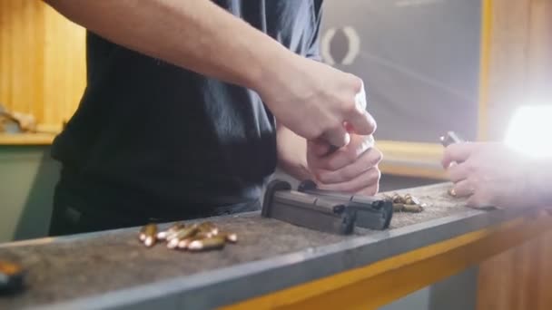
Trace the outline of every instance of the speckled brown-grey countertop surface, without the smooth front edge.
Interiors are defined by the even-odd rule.
[[[395,213],[391,228],[409,228],[453,215],[478,212],[451,199],[448,184],[399,190],[427,204],[421,213]],[[474,213],[475,212],[475,213]],[[221,251],[190,253],[169,250],[164,245],[146,248],[138,241],[139,228],[118,229],[71,237],[44,238],[0,246],[0,259],[20,262],[28,270],[25,292],[0,297],[0,308],[51,305],[159,281],[232,269],[287,254],[316,252],[317,248],[352,240],[365,242],[382,232],[363,230],[352,236],[336,236],[261,218],[260,213],[211,218],[220,228],[236,232],[235,245]],[[390,235],[389,235],[390,236]],[[306,253],[306,252],[305,252]]]

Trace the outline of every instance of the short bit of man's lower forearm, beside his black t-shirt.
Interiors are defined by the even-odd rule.
[[[295,179],[311,179],[307,165],[307,140],[278,124],[278,166]]]

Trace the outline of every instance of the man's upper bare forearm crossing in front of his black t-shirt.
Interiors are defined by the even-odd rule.
[[[44,1],[113,43],[251,89],[293,56],[209,0]]]

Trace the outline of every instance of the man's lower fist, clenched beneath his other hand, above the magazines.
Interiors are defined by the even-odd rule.
[[[372,196],[379,190],[381,152],[371,136],[350,134],[350,143],[330,154],[330,145],[309,141],[307,163],[320,189]]]

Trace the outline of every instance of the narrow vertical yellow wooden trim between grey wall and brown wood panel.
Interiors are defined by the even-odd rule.
[[[492,35],[492,0],[481,2],[481,43],[479,55],[478,140],[488,139],[488,79]]]

